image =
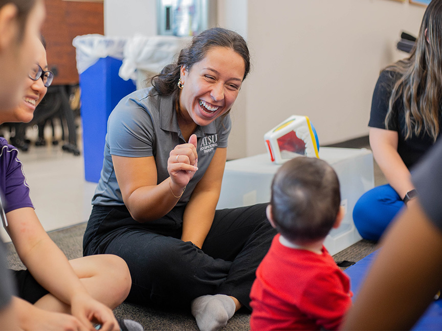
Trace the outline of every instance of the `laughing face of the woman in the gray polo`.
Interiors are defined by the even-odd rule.
[[[187,123],[212,123],[230,110],[245,73],[244,59],[230,48],[216,46],[187,70],[181,67],[180,111]]]

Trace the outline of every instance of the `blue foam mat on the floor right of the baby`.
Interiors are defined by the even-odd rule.
[[[379,251],[379,250],[378,250]],[[344,272],[350,277],[350,287],[353,292],[353,301],[358,295],[365,275],[371,263],[376,258],[378,251],[367,255],[356,264],[347,268]],[[441,330],[442,329],[442,299],[430,304],[424,315],[412,327],[412,330]]]

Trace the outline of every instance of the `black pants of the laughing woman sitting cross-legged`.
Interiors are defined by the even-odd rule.
[[[256,268],[276,234],[266,206],[216,210],[202,249],[180,239],[184,207],[141,224],[125,207],[94,206],[83,253],[115,254],[126,261],[132,277],[128,301],[188,306],[201,295],[226,294],[250,309]]]

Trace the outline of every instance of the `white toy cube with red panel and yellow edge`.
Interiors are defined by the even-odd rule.
[[[292,115],[264,134],[272,162],[282,164],[297,156],[319,158],[319,141],[307,116]]]

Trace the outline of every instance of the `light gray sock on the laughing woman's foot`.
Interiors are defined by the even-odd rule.
[[[197,297],[190,308],[201,331],[215,331],[226,326],[236,306],[228,295],[216,294]]]

